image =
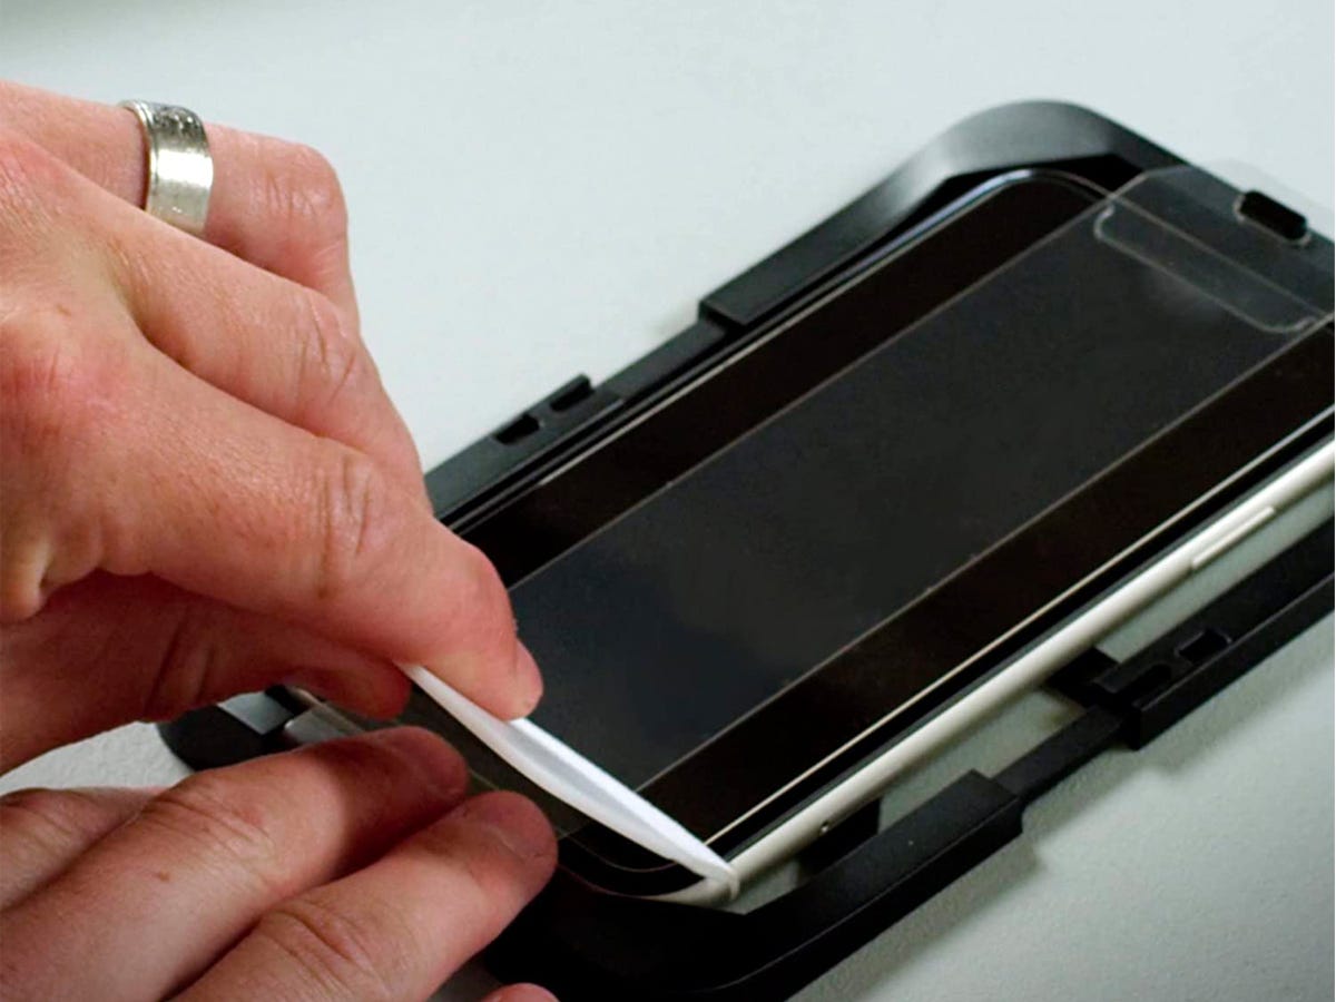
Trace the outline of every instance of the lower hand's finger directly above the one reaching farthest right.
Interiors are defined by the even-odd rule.
[[[379,858],[466,786],[458,754],[415,728],[195,774],[0,914],[0,997],[164,998],[257,916]],[[57,945],[77,963],[51,963]]]

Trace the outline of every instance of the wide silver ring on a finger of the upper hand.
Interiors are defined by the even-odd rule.
[[[200,236],[208,219],[214,159],[199,115],[175,104],[122,102],[139,119],[148,155],[144,211]]]

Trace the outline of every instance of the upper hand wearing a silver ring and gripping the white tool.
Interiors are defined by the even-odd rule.
[[[208,136],[200,240],[136,207],[132,112],[0,83],[0,768],[274,683],[393,715],[393,661],[540,695],[359,338],[333,171]]]

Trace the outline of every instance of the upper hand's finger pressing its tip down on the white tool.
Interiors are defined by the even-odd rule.
[[[51,509],[55,538],[95,534],[99,565],[425,664],[492,712],[522,716],[542,683],[490,561],[365,453],[289,425],[144,342],[136,410],[71,437],[87,464]],[[96,526],[96,528],[94,528]],[[43,580],[57,580],[45,569]]]

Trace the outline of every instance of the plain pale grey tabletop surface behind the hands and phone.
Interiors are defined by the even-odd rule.
[[[1332,36],[1327,0],[0,0],[0,75],[325,151],[433,465],[990,104],[1085,103],[1331,206]],[[1332,998],[1332,661],[1327,620],[803,998]],[[131,727],[0,788],[179,775]]]

